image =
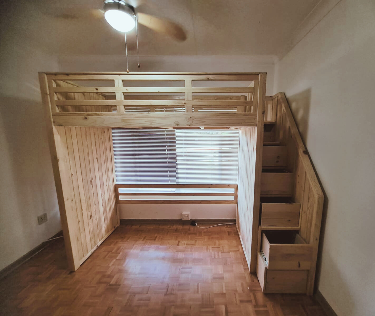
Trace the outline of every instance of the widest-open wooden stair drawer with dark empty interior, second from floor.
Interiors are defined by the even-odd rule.
[[[293,231],[265,231],[262,234],[262,252],[269,270],[309,270],[312,245]]]

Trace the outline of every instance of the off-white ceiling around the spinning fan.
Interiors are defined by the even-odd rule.
[[[129,2],[139,12],[177,22],[187,34],[187,40],[180,43],[139,25],[141,55],[280,56],[286,53],[285,42],[319,0]],[[55,54],[123,54],[123,34],[111,28],[104,17],[92,14],[102,8],[102,3],[101,0],[18,1],[3,10],[3,25],[17,29],[19,36]],[[128,33],[128,44],[130,54],[136,53],[134,30]]]

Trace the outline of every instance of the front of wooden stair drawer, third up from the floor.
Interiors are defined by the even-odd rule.
[[[298,226],[300,203],[262,203],[261,226]]]

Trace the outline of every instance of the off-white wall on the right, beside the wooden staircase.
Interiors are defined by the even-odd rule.
[[[339,1],[277,68],[327,195],[318,289],[339,316],[373,316],[375,1]]]

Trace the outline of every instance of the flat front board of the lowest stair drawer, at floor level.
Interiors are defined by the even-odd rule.
[[[266,271],[264,293],[306,293],[308,271],[269,270]]]

